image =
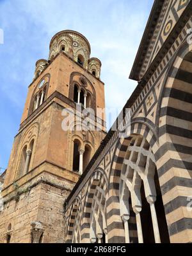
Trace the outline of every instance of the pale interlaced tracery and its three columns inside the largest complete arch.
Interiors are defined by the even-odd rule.
[[[156,208],[156,185],[154,175],[156,170],[154,155],[147,140],[142,136],[133,136],[127,152],[120,176],[120,215],[125,226],[125,242],[130,242],[129,236],[129,196],[131,206],[136,214],[136,226],[138,242],[143,242],[143,231],[140,212],[142,210],[141,182],[143,181],[145,197],[150,205],[154,237],[156,242],[161,242],[159,226],[157,223]]]

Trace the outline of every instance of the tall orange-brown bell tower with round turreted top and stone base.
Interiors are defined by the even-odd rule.
[[[0,242],[64,241],[63,203],[106,131],[101,62],[90,53],[81,33],[65,30],[52,37],[49,60],[36,62],[3,184]],[[94,113],[65,130],[63,109]]]

